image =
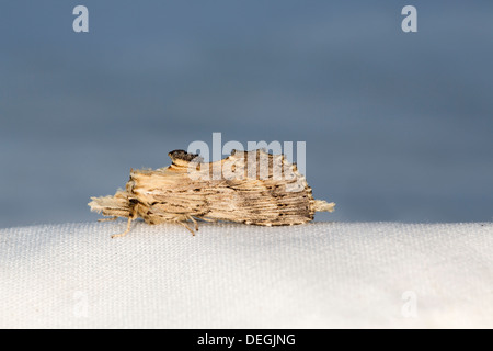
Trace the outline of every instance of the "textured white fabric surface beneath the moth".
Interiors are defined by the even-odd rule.
[[[124,228],[0,230],[0,327],[493,327],[491,223]]]

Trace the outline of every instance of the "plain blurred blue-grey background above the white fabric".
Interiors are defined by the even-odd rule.
[[[401,31],[406,4],[417,33]],[[492,220],[492,1],[2,1],[0,227],[95,220],[90,196],[213,132],[307,141],[313,194],[337,203],[321,220]]]

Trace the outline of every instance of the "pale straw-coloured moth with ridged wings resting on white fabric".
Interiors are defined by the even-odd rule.
[[[138,217],[150,225],[177,223],[195,235],[197,219],[287,226],[310,222],[316,212],[334,211],[333,202],[313,199],[305,177],[284,155],[232,150],[215,162],[184,150],[168,155],[171,166],[131,169],[125,190],[91,197],[91,211],[111,216],[100,220],[128,218],[126,230],[112,238],[128,234]]]

